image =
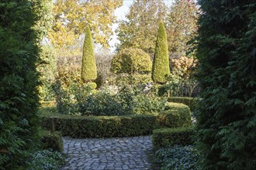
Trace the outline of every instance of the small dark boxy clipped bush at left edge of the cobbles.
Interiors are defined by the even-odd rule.
[[[41,144],[43,149],[52,149],[54,151],[63,151],[63,141],[61,138],[61,132],[55,131],[43,131],[41,134]]]

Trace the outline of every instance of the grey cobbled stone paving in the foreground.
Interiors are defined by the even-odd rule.
[[[132,138],[64,138],[67,154],[64,169],[150,169],[147,155],[152,150],[150,136]]]

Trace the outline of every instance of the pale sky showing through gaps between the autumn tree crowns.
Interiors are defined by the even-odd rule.
[[[164,2],[169,6],[171,5],[171,2],[173,2],[173,0],[164,0]],[[117,20],[126,19],[125,15],[129,12],[130,5],[132,4],[133,4],[133,0],[124,0],[123,6],[121,6],[120,8],[116,8],[115,15],[117,17]],[[116,49],[115,44],[119,42],[115,32],[117,26],[118,24],[113,24],[112,26],[112,32],[114,32],[114,35],[111,37],[112,40],[109,42],[110,53],[113,53],[115,51]]]

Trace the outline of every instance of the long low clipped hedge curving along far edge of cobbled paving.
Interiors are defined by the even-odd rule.
[[[157,115],[78,116],[47,114],[41,116],[41,126],[50,128],[50,117],[58,117],[56,131],[71,138],[113,138],[152,134],[156,128],[188,127],[191,125],[189,107],[168,104],[168,110]]]

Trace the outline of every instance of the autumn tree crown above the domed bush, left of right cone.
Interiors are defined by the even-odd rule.
[[[120,41],[118,51],[134,47],[154,53],[157,29],[166,12],[167,6],[163,0],[135,0],[126,19],[119,21],[116,30]]]

